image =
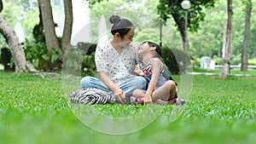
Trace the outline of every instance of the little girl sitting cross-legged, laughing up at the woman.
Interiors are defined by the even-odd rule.
[[[138,48],[139,66],[134,70],[148,80],[148,89],[145,93],[142,89],[135,89],[133,96],[137,98],[137,104],[173,104],[176,103],[177,87],[172,81],[170,72],[160,60],[161,48],[152,42],[143,42]]]

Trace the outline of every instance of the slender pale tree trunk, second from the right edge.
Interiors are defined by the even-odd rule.
[[[228,0],[228,24],[227,24],[227,47],[225,49],[224,55],[224,65],[222,68],[222,72],[220,73],[220,78],[227,78],[228,74],[230,73],[230,58],[232,55],[232,14],[233,14],[233,6],[232,0]]]

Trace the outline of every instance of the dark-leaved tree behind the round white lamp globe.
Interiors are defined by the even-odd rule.
[[[205,1],[205,0],[197,0],[190,1],[191,8],[188,9],[188,29],[191,32],[196,32],[199,29],[199,24],[202,20],[204,20],[205,14],[202,11],[202,8],[212,8],[214,7],[214,0]],[[185,35],[185,17],[184,10],[181,7],[182,1],[180,0],[160,0],[158,5],[158,13],[160,14],[160,18],[163,20],[170,19],[170,15],[172,15],[173,20],[175,20],[177,30],[180,32],[181,37],[183,39],[183,45],[187,44],[185,51],[189,54],[189,42],[186,39]]]

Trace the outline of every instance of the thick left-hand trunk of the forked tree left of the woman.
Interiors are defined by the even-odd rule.
[[[52,9],[49,0],[38,0],[39,7],[42,13],[44,24],[45,41],[47,47],[47,54],[49,56],[49,68],[52,70],[52,49],[61,49],[58,38],[55,33],[55,23],[52,16]]]

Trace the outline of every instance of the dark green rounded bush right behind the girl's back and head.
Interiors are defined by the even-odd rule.
[[[162,60],[172,74],[185,73],[190,63],[189,55],[180,49],[162,49]]]

